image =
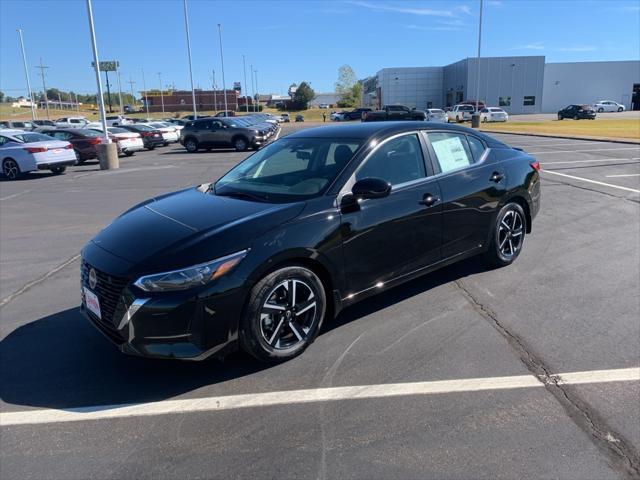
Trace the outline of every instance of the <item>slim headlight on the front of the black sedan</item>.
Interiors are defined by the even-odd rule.
[[[171,272],[145,275],[135,281],[134,285],[145,292],[172,292],[205,285],[235,267],[246,257],[249,250],[232,253],[211,262],[193,265],[192,267]]]

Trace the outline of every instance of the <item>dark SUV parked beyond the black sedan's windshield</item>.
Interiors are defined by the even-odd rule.
[[[190,153],[216,147],[233,147],[237,152],[244,152],[249,147],[261,147],[270,137],[266,126],[249,125],[235,118],[198,119],[180,130],[180,143]]]

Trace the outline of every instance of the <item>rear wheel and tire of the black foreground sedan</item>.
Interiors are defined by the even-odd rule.
[[[485,258],[498,267],[512,264],[522,251],[526,232],[524,210],[515,202],[507,203],[496,216]]]

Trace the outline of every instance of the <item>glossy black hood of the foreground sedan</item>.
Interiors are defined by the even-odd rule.
[[[205,187],[205,188],[202,188]],[[294,218],[304,202],[273,204],[204,193],[206,186],[153,198],[122,214],[92,242],[153,270],[202,263],[245,248]]]

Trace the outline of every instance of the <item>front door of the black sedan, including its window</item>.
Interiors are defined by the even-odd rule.
[[[392,185],[388,197],[342,213],[348,294],[356,296],[440,260],[441,204],[417,133],[382,142],[354,175]]]

